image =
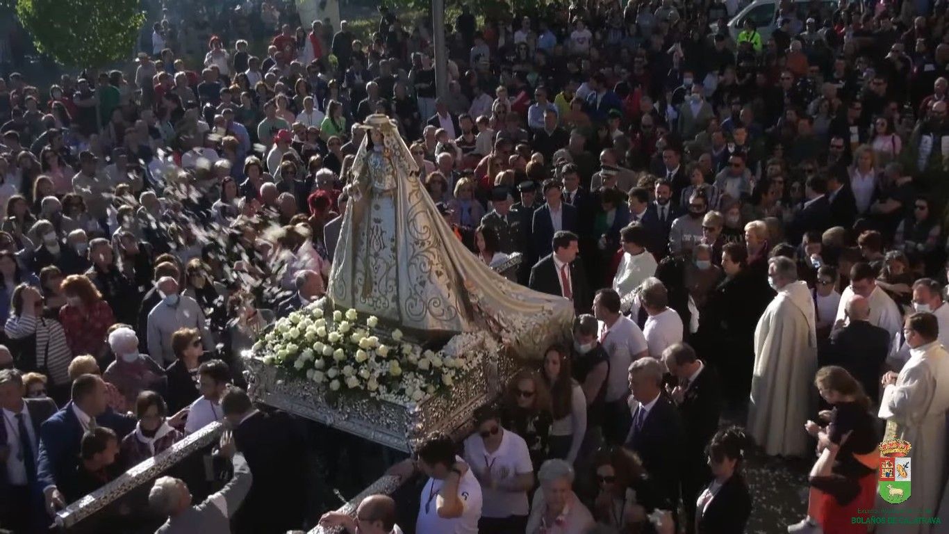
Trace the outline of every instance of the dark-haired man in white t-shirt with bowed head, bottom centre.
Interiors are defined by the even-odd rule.
[[[402,480],[416,469],[427,475],[421,490],[417,534],[477,534],[481,518],[481,485],[461,458],[455,442],[443,432],[432,432],[416,448],[418,462],[404,460],[388,474]]]

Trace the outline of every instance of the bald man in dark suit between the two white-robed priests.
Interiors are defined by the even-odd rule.
[[[864,386],[866,394],[879,400],[880,374],[889,353],[889,334],[870,323],[870,301],[854,296],[847,302],[847,326],[830,334],[828,343],[818,353],[820,367],[839,365]]]

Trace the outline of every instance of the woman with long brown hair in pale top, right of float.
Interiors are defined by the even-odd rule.
[[[570,372],[567,348],[552,345],[544,356],[541,373],[550,391],[548,458],[560,458],[573,464],[586,434],[586,396]]]

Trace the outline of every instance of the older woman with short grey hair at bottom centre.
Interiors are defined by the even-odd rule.
[[[530,506],[527,534],[584,534],[593,515],[573,492],[573,467],[560,459],[544,462],[537,472],[540,489]]]

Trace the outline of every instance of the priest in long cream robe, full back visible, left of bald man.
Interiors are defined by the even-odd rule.
[[[804,456],[804,424],[817,371],[814,301],[791,259],[772,257],[768,277],[777,295],[754,329],[748,431],[767,454]]]

